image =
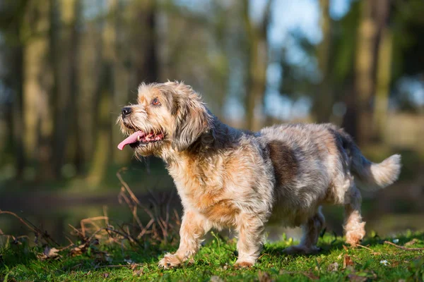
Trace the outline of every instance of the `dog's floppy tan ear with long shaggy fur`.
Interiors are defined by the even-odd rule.
[[[181,152],[192,145],[210,128],[211,116],[192,87],[179,82],[167,82],[174,95],[175,129],[172,147]]]

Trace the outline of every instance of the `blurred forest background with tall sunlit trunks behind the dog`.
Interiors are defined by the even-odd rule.
[[[374,161],[400,152],[399,183],[365,195],[367,228],[424,228],[423,0],[0,0],[0,209],[59,234],[105,204],[129,216],[123,166],[141,200],[175,190],[160,161],[116,148],[121,107],[165,80],[235,127],[331,122]]]

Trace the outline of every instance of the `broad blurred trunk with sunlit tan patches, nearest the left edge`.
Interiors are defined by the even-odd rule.
[[[40,164],[37,178],[52,178],[52,70],[49,56],[50,5],[30,1],[25,15],[30,35],[24,49],[23,114],[25,156]]]

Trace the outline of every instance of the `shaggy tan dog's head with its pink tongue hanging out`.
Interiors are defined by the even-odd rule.
[[[210,127],[211,116],[192,87],[182,82],[139,86],[138,104],[122,108],[117,123],[128,135],[119,145],[130,145],[136,155],[163,154],[189,148]]]

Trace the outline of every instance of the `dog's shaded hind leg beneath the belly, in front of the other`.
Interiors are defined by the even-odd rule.
[[[307,223],[302,225],[303,237],[299,245],[288,247],[284,250],[286,254],[312,254],[319,251],[317,247],[319,233],[324,226],[325,219],[319,207]]]

